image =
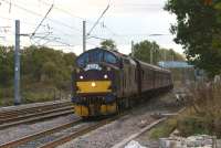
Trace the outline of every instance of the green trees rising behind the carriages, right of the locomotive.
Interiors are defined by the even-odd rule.
[[[134,46],[135,57],[150,63],[150,51],[152,50],[152,63],[157,64],[159,61],[185,61],[182,55],[176,53],[173,50],[160,49],[156,42],[147,40],[141,41]]]

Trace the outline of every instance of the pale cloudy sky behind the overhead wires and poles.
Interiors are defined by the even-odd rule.
[[[176,17],[164,11],[166,1],[0,0],[0,44],[14,44],[14,20],[20,20],[22,34],[31,35],[35,31],[32,36],[21,36],[21,46],[46,45],[78,55],[83,51],[82,22],[86,21],[88,33],[109,3],[106,13],[87,36],[87,50],[99,46],[103,39],[112,39],[120,52],[128,54],[131,41],[138,43],[149,40],[156,41],[161,47],[182,53],[182,47],[172,41],[175,36],[169,32],[170,24],[176,23]]]

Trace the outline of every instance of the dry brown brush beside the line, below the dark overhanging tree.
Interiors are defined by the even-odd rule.
[[[182,136],[209,134],[221,137],[221,84],[189,87],[188,112],[178,118]]]

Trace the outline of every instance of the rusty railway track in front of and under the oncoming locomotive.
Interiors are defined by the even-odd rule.
[[[28,148],[28,147],[39,147],[39,148],[52,148],[67,142],[76,137],[87,134],[92,130],[97,129],[110,121],[118,119],[126,114],[117,115],[110,118],[102,119],[99,121],[85,123],[81,118],[74,121],[53,127],[51,129],[42,130],[33,135],[24,136],[6,144],[1,144],[0,148]],[[78,126],[78,127],[77,127]],[[55,136],[56,135],[56,136]],[[60,136],[57,136],[60,135]],[[50,138],[49,138],[50,137]],[[48,141],[48,139],[52,139]],[[33,146],[34,144],[34,146]]]

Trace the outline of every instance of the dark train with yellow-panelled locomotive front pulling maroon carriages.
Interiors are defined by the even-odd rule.
[[[82,53],[72,75],[72,103],[87,118],[120,113],[149,94],[173,87],[171,72],[117,51],[95,47]]]

